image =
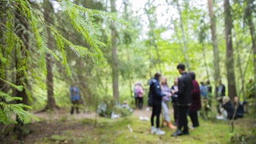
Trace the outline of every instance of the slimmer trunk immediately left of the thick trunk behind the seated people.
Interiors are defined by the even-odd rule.
[[[219,64],[220,58],[219,58],[219,49],[217,44],[216,26],[214,21],[215,17],[213,13],[213,0],[208,0],[208,9],[209,9],[209,17],[210,17],[211,33],[212,33],[214,85],[217,86],[218,82],[220,81],[220,64]],[[215,91],[215,94],[217,94],[217,91]]]

